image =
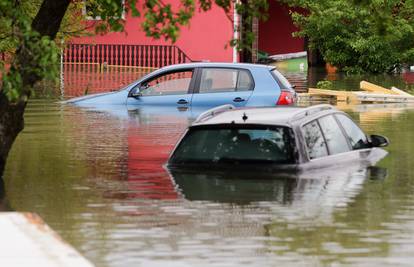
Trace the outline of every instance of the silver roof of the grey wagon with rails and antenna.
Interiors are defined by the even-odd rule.
[[[292,126],[310,117],[327,111],[337,111],[331,105],[315,105],[311,107],[252,107],[234,108],[224,105],[201,114],[193,126],[213,124],[266,124]]]

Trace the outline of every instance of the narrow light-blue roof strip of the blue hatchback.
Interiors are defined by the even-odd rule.
[[[176,65],[169,65],[161,68],[160,70],[175,70],[175,69],[185,69],[185,68],[207,68],[207,67],[216,67],[216,68],[244,68],[244,69],[274,69],[274,66],[261,65],[261,64],[249,64],[249,63],[226,63],[226,62],[192,62],[192,63],[183,63]]]

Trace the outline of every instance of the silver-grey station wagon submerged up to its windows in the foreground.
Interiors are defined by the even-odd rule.
[[[220,106],[201,114],[168,160],[169,168],[269,166],[287,170],[352,162],[373,165],[387,152],[387,138],[367,136],[330,105],[307,108]]]

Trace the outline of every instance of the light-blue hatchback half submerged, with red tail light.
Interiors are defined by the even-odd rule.
[[[275,67],[243,63],[189,63],[156,70],[117,92],[67,101],[80,106],[160,105],[177,108],[291,105],[292,85]]]

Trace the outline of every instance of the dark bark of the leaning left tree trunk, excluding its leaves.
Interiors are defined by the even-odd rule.
[[[44,0],[33,19],[32,29],[40,33],[41,36],[49,36],[53,40],[59,31],[70,2],[71,0]],[[19,47],[16,50],[8,75],[21,71],[19,66],[37,66],[35,60],[35,56],[30,51]],[[30,97],[31,88],[41,79],[34,70],[21,71],[20,74],[23,87],[20,90],[20,100],[10,102],[4,92],[0,91],[0,179],[3,176],[6,159],[12,144],[20,131],[23,130],[23,114],[27,99]]]

